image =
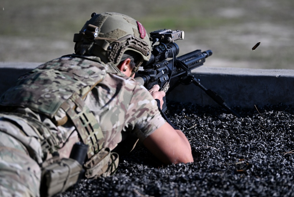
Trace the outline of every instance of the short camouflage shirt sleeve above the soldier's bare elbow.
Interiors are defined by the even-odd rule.
[[[136,85],[125,118],[128,129],[141,141],[166,122],[158,110],[156,100],[142,85]]]

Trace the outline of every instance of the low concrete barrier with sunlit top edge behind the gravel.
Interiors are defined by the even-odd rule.
[[[16,79],[41,63],[0,62],[0,94],[15,84]],[[193,75],[201,84],[225,99],[229,106],[252,108],[254,105],[293,104],[294,70],[199,67]],[[194,84],[179,85],[169,100],[200,105],[217,105]]]

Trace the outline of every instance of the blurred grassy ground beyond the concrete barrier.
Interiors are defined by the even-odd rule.
[[[1,0],[0,61],[46,62],[73,53],[73,35],[91,13],[114,11],[147,32],[183,30],[179,55],[211,49],[204,66],[292,69],[293,10],[293,0]]]

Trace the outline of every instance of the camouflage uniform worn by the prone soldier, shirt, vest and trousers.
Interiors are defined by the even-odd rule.
[[[113,150],[129,134],[143,141],[165,123],[143,86],[115,65],[91,58],[61,57],[42,64],[2,95],[0,104],[7,113],[0,114],[0,196],[39,196],[41,163],[56,151],[69,157],[80,140],[90,145],[89,158],[97,149]],[[81,136],[85,133],[78,133],[66,118],[69,112],[61,104],[83,110],[74,107],[78,99],[90,109],[85,113],[95,117],[93,130],[101,129],[102,137],[97,132],[91,138]]]

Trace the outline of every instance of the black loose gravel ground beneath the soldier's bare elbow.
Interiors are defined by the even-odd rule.
[[[83,179],[66,196],[294,196],[294,108],[168,102],[167,115],[186,134],[194,163],[161,165],[144,147],[120,157],[118,171]]]

